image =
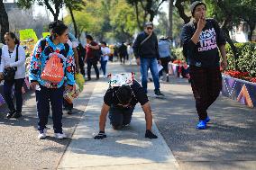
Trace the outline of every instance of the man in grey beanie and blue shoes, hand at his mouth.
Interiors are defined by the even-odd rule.
[[[227,67],[224,33],[214,19],[206,19],[206,4],[196,1],[190,6],[193,20],[181,32],[184,54],[189,65],[191,87],[196,99],[199,122],[197,129],[205,130],[210,121],[208,107],[215,102],[222,88],[222,67]]]

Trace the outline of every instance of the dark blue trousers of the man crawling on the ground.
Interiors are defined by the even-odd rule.
[[[120,129],[123,125],[129,124],[132,121],[133,110],[134,107],[121,108],[111,106],[108,117],[114,129]]]

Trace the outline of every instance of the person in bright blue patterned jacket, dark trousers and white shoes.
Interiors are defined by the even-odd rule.
[[[63,22],[59,21],[53,22],[52,24],[52,34],[50,37],[47,37],[45,40],[40,40],[34,48],[29,70],[29,79],[32,89],[36,90],[39,139],[46,138],[46,124],[48,122],[48,115],[50,114],[50,105],[55,138],[66,138],[62,130],[61,122],[64,76],[67,78],[68,85],[66,88],[69,88],[71,91],[73,85],[75,85],[74,53],[71,48],[69,48],[69,52],[67,52],[66,45],[64,45],[68,40],[68,27]],[[56,60],[58,62],[55,63],[55,65],[57,65],[60,72],[61,70],[63,71],[64,76],[60,76],[61,80],[59,82],[51,82],[50,80],[42,79],[42,73],[46,71],[46,66],[49,66],[48,62],[50,62],[51,58],[56,57],[58,57]]]

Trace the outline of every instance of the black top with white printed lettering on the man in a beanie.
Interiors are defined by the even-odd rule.
[[[214,19],[206,19],[206,26],[195,44],[191,38],[196,30],[197,23],[188,22],[181,32],[187,63],[196,67],[218,67],[220,59],[218,46],[225,44],[223,31]]]

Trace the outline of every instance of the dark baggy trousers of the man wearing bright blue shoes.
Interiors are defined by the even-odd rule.
[[[196,99],[199,120],[206,120],[206,110],[215,102],[222,89],[222,76],[219,67],[189,67],[191,87]]]

